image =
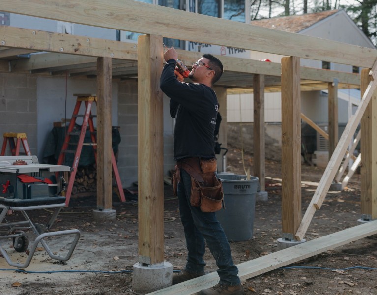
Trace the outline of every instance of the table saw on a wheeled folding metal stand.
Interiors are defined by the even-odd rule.
[[[80,231],[48,232],[61,208],[65,207],[65,197],[61,193],[66,183],[62,174],[70,170],[69,166],[64,165],[40,164],[36,156],[0,156],[0,252],[10,266],[29,266],[39,243],[52,259],[66,261],[71,257]],[[29,217],[29,211],[40,209],[55,210],[46,224],[36,223]],[[6,216],[13,211],[21,212],[23,220],[8,221]],[[67,235],[73,236],[68,253],[63,256],[53,253],[47,245],[48,238]],[[17,262],[13,262],[8,252],[25,252],[29,247],[29,238],[35,239],[26,261],[21,263],[17,259]],[[6,249],[9,241],[13,245]]]

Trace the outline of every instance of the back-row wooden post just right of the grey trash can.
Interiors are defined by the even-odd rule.
[[[254,175],[259,178],[260,190],[265,190],[264,162],[264,75],[255,74],[253,82],[254,97]]]

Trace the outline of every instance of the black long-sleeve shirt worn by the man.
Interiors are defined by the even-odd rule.
[[[215,157],[213,132],[218,101],[212,88],[179,82],[170,59],[161,74],[160,87],[170,97],[170,115],[175,118],[174,160]]]

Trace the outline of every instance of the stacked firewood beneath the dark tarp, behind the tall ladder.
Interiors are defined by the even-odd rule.
[[[97,190],[97,171],[95,165],[78,167],[72,194],[90,193]]]

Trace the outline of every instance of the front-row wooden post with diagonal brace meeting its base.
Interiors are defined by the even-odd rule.
[[[295,240],[301,222],[300,59],[282,59],[282,230]]]

